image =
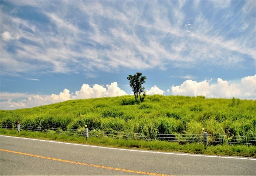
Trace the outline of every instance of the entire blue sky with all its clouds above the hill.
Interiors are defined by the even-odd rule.
[[[147,94],[255,99],[255,1],[2,1],[1,109]]]

